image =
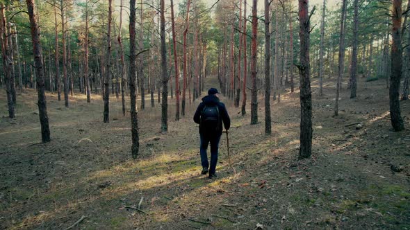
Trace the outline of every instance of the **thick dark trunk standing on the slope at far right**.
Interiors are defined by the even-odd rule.
[[[404,130],[404,123],[400,114],[400,79],[402,78],[402,0],[393,0],[393,43],[391,45],[391,76],[390,88],[388,90],[390,98],[390,117],[393,129]]]

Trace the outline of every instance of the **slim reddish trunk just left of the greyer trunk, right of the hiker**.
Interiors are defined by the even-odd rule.
[[[251,125],[258,123],[258,89],[256,85],[256,55],[257,46],[256,38],[258,35],[258,0],[253,0],[252,5],[252,60],[251,60],[251,72],[252,72],[252,101],[251,101]]]

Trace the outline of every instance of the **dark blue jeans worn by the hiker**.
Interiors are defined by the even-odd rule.
[[[208,155],[206,149],[208,149],[208,143],[211,143],[211,167],[209,167],[209,175],[215,173],[216,163],[218,162],[218,146],[221,135],[205,135],[201,134],[201,164],[203,168],[208,168]]]

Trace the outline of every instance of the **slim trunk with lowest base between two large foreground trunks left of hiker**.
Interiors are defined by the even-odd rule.
[[[107,25],[107,57],[106,78],[104,80],[104,123],[110,122],[110,80],[111,80],[111,20],[113,15],[112,0],[108,0],[108,25]]]

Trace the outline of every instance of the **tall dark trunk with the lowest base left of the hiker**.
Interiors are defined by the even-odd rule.
[[[138,114],[136,109],[136,0],[129,1],[129,9],[129,94],[131,101],[132,134],[131,154],[133,158],[136,159],[140,149],[140,137],[138,136]]]

